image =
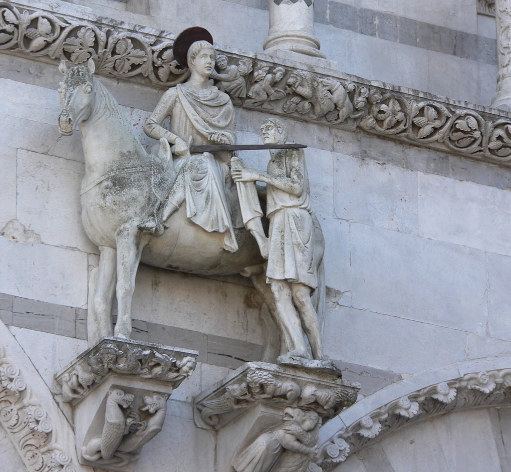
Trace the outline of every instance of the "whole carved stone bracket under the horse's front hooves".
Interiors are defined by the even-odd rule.
[[[56,375],[72,405],[79,462],[132,472],[164,424],[167,400],[196,366],[197,351],[105,338]]]

